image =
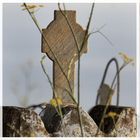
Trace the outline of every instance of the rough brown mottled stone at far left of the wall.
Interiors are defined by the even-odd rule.
[[[4,137],[49,136],[39,115],[20,107],[3,107]]]

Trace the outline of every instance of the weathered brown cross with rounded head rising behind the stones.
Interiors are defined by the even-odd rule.
[[[76,23],[76,11],[63,12],[65,12],[67,16],[79,46],[81,46],[85,36],[85,30]],[[57,97],[60,97],[63,102],[73,103],[68,92],[74,95],[74,71],[78,53],[70,27],[61,11],[54,11],[54,20],[46,29],[43,29],[42,32],[43,37],[45,37],[45,39],[42,37],[42,52],[46,53],[53,61],[53,86],[57,93]],[[86,52],[87,43],[84,44],[80,55]],[[69,79],[71,88],[69,87],[66,77],[58,65],[56,58],[63,69],[65,76]]]

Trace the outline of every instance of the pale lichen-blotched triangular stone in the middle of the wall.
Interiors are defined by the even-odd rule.
[[[80,109],[85,137],[94,137],[97,132],[97,125],[87,112]],[[99,130],[98,136],[103,133]],[[81,137],[81,129],[79,125],[78,112],[73,108],[63,119],[63,124],[58,132],[53,133],[57,137]]]

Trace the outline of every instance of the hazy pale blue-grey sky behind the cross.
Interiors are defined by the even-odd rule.
[[[90,8],[91,4],[66,4],[66,9],[76,10],[77,23],[83,28],[86,27]],[[28,13],[21,9],[20,4],[3,4],[3,105],[20,105],[14,91],[23,97],[27,93],[26,71],[31,72],[30,78],[27,77],[30,80],[28,82],[33,83],[27,104],[49,102],[52,97],[50,85],[40,65],[43,55],[41,35]],[[36,13],[41,28],[46,28],[53,20],[55,9],[58,9],[57,4],[45,4]],[[95,104],[107,62],[116,57],[121,65],[119,52],[135,59],[136,5],[96,4],[90,31],[103,25],[105,26],[101,31],[112,41],[113,46],[100,34],[93,34],[88,41],[88,52],[81,59],[81,106],[86,110]],[[49,60],[46,63],[46,69],[52,75],[52,63]],[[107,83],[111,83],[114,73],[115,69],[110,67]],[[120,105],[135,107],[135,66],[127,66],[121,72],[120,78]]]

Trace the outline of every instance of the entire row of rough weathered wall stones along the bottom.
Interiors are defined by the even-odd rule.
[[[103,106],[95,106],[94,115],[100,118]],[[100,109],[99,109],[100,108]],[[52,116],[49,116],[52,110]],[[97,114],[96,114],[97,111]],[[110,106],[110,112],[116,112],[118,117],[115,119],[115,126],[111,131],[103,132],[99,129],[99,123],[92,119],[89,114],[80,108],[82,124],[85,137],[135,137],[136,136],[136,112],[131,107],[115,107]],[[63,106],[63,119],[58,119],[57,111],[50,105],[42,110],[40,117],[34,111],[19,107],[3,107],[3,136],[4,137],[81,137],[81,129],[79,125],[78,112],[76,106]],[[41,118],[44,117],[43,124]],[[50,117],[50,118],[48,118]],[[109,116],[110,117],[110,116]],[[53,122],[53,123],[52,123]],[[54,123],[56,122],[56,123]],[[106,122],[104,122],[106,123]],[[111,122],[112,123],[112,122]],[[53,126],[51,126],[53,125]],[[57,126],[58,125],[58,126]],[[50,127],[51,126],[51,127]],[[105,125],[104,125],[105,126]],[[50,130],[48,131],[45,129]],[[57,127],[57,129],[54,129]],[[106,128],[105,128],[106,129]],[[98,134],[97,134],[98,131]]]

